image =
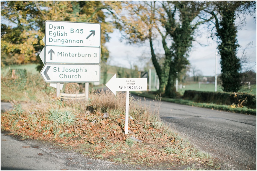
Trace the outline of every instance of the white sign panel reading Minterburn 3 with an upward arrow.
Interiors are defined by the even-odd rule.
[[[45,63],[99,64],[100,47],[46,46]]]

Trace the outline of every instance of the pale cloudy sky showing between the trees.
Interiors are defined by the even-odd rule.
[[[256,22],[253,17],[246,17],[246,25],[240,27],[237,33],[238,44],[238,57],[243,54],[243,49],[252,42],[250,46],[245,50],[247,55],[247,68],[251,68],[256,72]],[[215,53],[217,52],[217,43],[212,40],[210,33],[206,31],[203,27],[199,28],[201,37],[196,38],[193,42],[191,52],[189,54],[189,62],[196,69],[199,69],[203,76],[215,76]],[[106,43],[108,50],[110,52],[110,58],[108,63],[110,65],[120,66],[130,68],[130,64],[136,64],[139,68],[143,68],[144,64],[147,62],[142,62],[139,59],[144,57],[151,57],[149,42],[141,44],[126,44],[126,41],[120,41],[121,34],[118,30],[115,30],[112,34],[110,41]],[[202,47],[199,43],[207,45]],[[155,45],[159,44],[161,46],[161,41],[155,42]],[[161,52],[161,50],[160,50]],[[217,74],[221,73],[221,67],[219,64],[220,56],[217,55]],[[192,73],[188,73],[192,76]]]

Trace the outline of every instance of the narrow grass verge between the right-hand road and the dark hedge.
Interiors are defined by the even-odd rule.
[[[136,95],[140,95],[141,97],[147,97],[150,99],[154,99],[157,94],[149,93],[149,92],[131,92]],[[162,97],[162,101],[166,102],[173,102],[173,103],[178,103],[178,104],[185,104],[189,106],[195,106],[195,107],[204,107],[204,108],[209,108],[209,109],[214,109],[214,110],[222,110],[226,112],[233,112],[233,113],[241,113],[241,114],[251,114],[251,115],[256,115],[256,109],[250,109],[245,106],[237,106],[235,104],[231,105],[225,105],[225,104],[214,104],[214,103],[200,103],[200,102],[194,102],[192,100],[185,100],[185,99],[170,99],[166,97]]]

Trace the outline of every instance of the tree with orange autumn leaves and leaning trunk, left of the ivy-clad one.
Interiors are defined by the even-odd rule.
[[[126,1],[123,10],[116,13],[116,26],[120,29],[123,39],[130,44],[149,41],[151,59],[160,80],[160,92],[164,92],[168,77],[168,62],[160,62],[154,52],[153,41],[158,34],[156,30],[156,1]],[[158,27],[157,27],[158,28]],[[165,44],[166,36],[162,36]]]

